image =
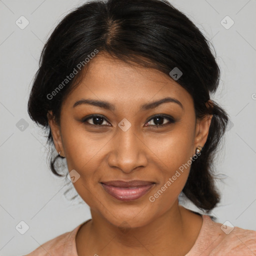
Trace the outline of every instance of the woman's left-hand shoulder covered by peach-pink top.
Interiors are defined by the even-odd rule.
[[[60,234],[55,238],[44,242],[35,250],[24,256],[76,256],[75,234],[81,225],[82,224],[79,224],[73,230]]]

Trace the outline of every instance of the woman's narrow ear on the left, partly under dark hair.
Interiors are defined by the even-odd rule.
[[[52,135],[52,139],[56,148],[57,153],[59,151],[60,155],[64,157],[64,150],[62,145],[61,133],[60,133],[60,126],[56,123],[56,120],[52,114],[52,111],[49,110],[47,113],[48,124],[50,126],[50,132]]]

